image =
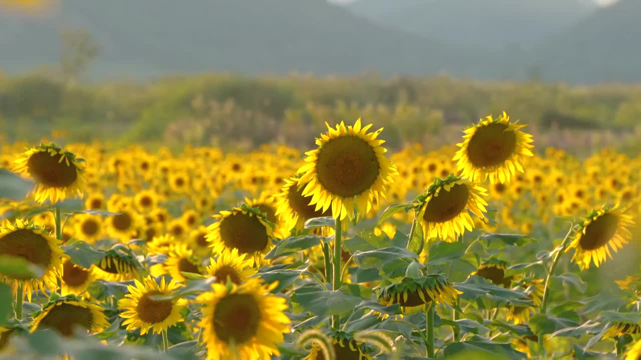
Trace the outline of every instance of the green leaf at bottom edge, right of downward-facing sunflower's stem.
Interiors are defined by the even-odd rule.
[[[478,335],[474,335],[467,341],[448,343],[443,350],[445,359],[509,360],[527,358],[526,354],[514,350],[509,343],[495,343]]]

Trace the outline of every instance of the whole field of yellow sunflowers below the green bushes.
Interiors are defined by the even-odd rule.
[[[641,359],[641,156],[6,143],[2,359]],[[635,223],[636,222],[636,223]]]

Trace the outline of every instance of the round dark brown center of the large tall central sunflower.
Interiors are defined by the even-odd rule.
[[[342,197],[359,195],[372,187],[380,174],[374,147],[356,136],[340,136],[322,145],[317,179],[329,192]]]

